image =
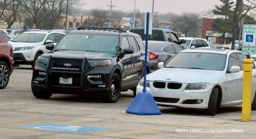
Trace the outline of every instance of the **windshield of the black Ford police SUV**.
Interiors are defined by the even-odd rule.
[[[54,47],[54,50],[75,50],[89,52],[117,53],[119,44],[117,35],[66,34]]]

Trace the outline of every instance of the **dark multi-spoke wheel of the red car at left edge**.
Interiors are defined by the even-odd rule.
[[[3,61],[0,61],[0,89],[4,89],[10,78],[10,70],[7,64]]]

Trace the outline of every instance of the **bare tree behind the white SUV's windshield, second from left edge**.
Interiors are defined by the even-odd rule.
[[[37,26],[40,26],[40,23],[47,17],[47,2],[47,0],[23,0],[22,6]]]

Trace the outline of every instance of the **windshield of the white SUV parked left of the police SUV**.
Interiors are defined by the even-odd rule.
[[[39,43],[43,41],[46,34],[41,33],[23,33],[16,37],[14,42]]]

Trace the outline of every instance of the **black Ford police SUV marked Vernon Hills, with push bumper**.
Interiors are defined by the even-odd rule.
[[[143,77],[145,47],[140,35],[107,27],[70,31],[34,64],[31,81],[36,98],[54,94],[95,93],[116,102],[121,91],[133,90]],[[149,73],[147,61],[147,73]]]

